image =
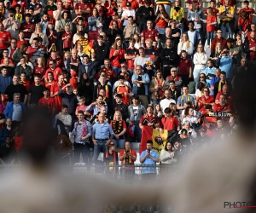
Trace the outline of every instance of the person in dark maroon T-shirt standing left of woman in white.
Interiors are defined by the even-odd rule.
[[[190,79],[192,78],[192,65],[191,61],[187,57],[187,52],[185,50],[182,50],[180,53],[177,71],[179,76],[183,79],[183,84],[188,85]]]

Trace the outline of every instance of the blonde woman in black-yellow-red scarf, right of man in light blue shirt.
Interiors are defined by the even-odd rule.
[[[126,123],[122,120],[122,114],[116,111],[113,114],[113,120],[110,122],[110,126],[113,129],[113,139],[115,147],[125,147],[125,132]]]

